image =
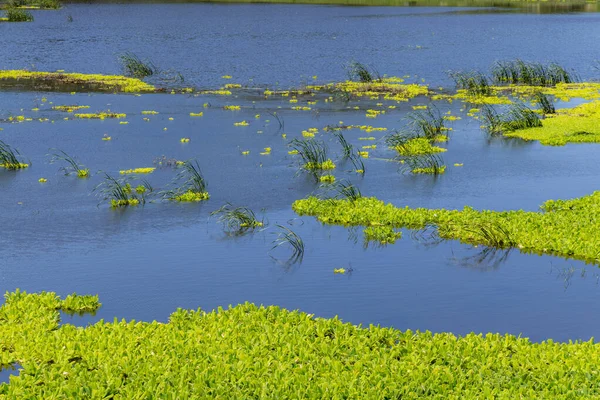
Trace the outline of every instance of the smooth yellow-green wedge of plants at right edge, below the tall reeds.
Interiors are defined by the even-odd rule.
[[[570,109],[557,110],[547,115],[538,128],[521,129],[506,134],[525,140],[539,140],[541,144],[563,146],[567,143],[600,142],[600,101],[582,104]]]

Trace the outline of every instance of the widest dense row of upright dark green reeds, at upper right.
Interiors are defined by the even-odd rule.
[[[556,63],[542,64],[519,59],[496,62],[492,67],[492,77],[500,84],[530,86],[554,86],[558,83],[573,83],[577,80],[572,73]]]

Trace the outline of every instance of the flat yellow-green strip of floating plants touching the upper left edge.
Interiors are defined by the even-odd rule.
[[[0,87],[59,92],[154,92],[156,88],[139,79],[118,75],[0,70]]]

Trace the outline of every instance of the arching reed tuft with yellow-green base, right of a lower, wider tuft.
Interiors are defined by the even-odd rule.
[[[210,198],[198,161],[185,161],[173,184],[177,186],[175,189],[163,193],[167,200],[198,202]]]

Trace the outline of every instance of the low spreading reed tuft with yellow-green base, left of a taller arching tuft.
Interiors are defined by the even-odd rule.
[[[153,189],[146,180],[133,188],[131,183],[124,179],[115,179],[105,173],[104,181],[94,188],[98,191],[103,201],[109,201],[111,207],[137,206],[146,203],[147,194]]]

